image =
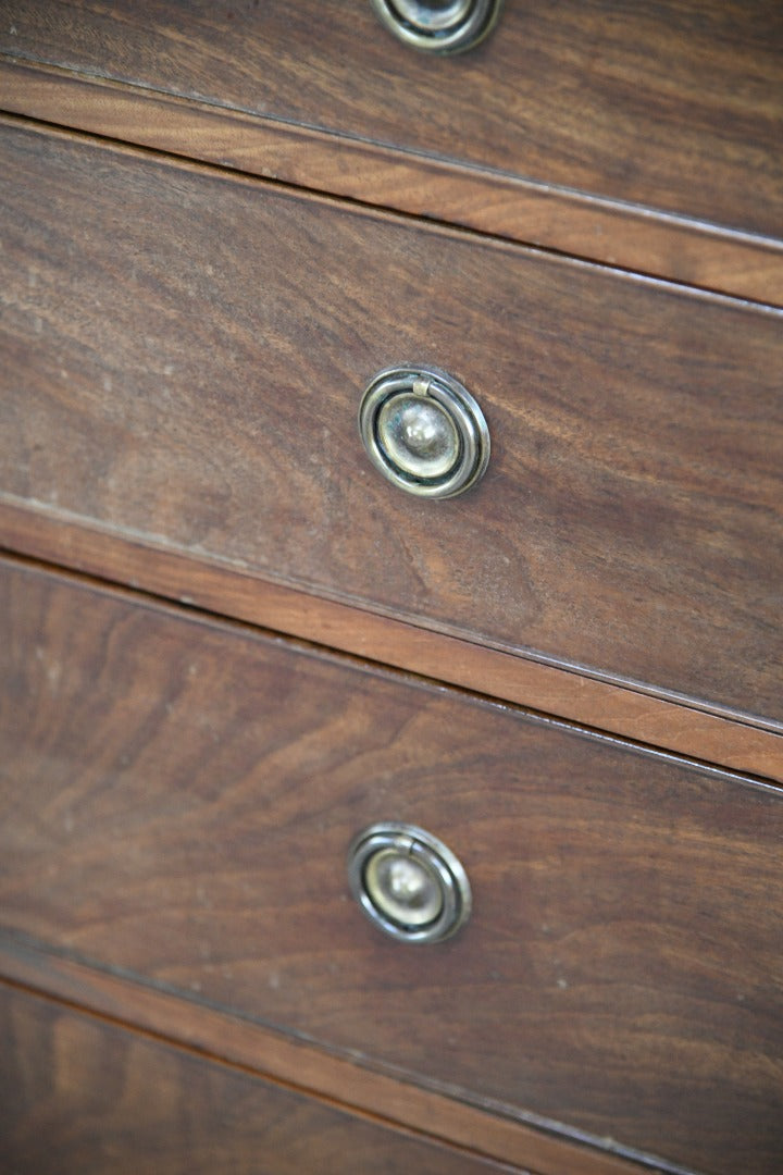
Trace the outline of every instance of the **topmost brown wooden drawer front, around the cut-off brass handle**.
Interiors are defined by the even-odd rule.
[[[369,0],[6,9],[0,51],[25,61],[781,235],[776,0],[508,0],[452,60],[399,45]]]

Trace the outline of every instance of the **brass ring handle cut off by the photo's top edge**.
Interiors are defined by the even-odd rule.
[[[386,28],[414,49],[464,53],[482,41],[501,0],[371,0]]]

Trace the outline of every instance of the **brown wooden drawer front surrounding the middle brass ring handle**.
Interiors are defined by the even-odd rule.
[[[783,718],[779,315],[32,130],[0,175],[8,499]],[[411,361],[488,418],[464,498],[362,448]]]

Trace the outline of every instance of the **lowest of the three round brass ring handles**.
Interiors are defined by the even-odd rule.
[[[443,841],[409,824],[373,824],[351,842],[351,893],[400,942],[443,942],[471,913],[465,870]]]

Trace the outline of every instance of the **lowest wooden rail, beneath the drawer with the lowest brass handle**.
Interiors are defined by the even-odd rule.
[[[399,1080],[370,1059],[346,1060],[301,1039],[248,1019],[94,966],[54,954],[0,931],[0,976],[92,1009],[259,1076],[349,1107],[398,1129],[451,1141],[504,1164],[546,1175],[650,1175],[648,1162],[580,1144],[563,1134],[536,1129],[497,1107],[481,1108]],[[315,1170],[319,1170],[317,1163]],[[654,1170],[655,1168],[653,1168]],[[661,1170],[666,1168],[659,1168]],[[504,1170],[506,1167],[504,1166]]]

